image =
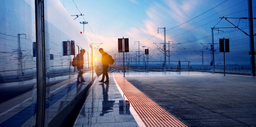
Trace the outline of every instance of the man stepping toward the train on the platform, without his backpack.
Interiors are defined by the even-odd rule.
[[[109,75],[108,75],[109,63],[107,62],[108,61],[107,53],[104,52],[102,48],[100,48],[99,51],[102,55],[101,62],[103,64],[102,79],[99,82],[103,83],[104,78],[106,76],[106,81],[104,83],[109,83]]]

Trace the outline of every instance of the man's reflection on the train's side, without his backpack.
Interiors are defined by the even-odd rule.
[[[85,80],[83,79],[83,54],[85,53],[85,50],[80,50],[80,54],[77,54],[76,58],[77,58],[77,70],[79,71],[78,75],[77,75],[77,83],[82,83],[85,82]],[[81,82],[80,82],[80,80]]]

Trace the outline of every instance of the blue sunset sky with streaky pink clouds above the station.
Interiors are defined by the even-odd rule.
[[[191,61],[204,64],[211,61],[211,28],[234,27],[219,17],[248,17],[247,0],[60,0],[70,15],[79,15],[74,21],[83,29],[95,47],[103,48],[118,61],[118,38],[129,38],[129,54],[135,61],[136,51],[149,48],[149,61],[164,60],[164,29],[166,28],[166,52],[170,61]],[[75,5],[75,4],[76,5]],[[253,17],[256,17],[256,1],[253,1]],[[80,11],[80,12],[79,12]],[[73,16],[73,18],[76,18]],[[240,29],[249,33],[248,19],[228,19]],[[255,22],[255,20],[254,20]],[[255,24],[255,23],[253,23]],[[254,25],[254,33],[256,33]],[[159,31],[158,31],[159,30]],[[236,28],[214,30],[215,64],[223,64],[223,53],[219,52],[219,38],[230,39],[230,52],[225,53],[226,64],[250,64],[249,36]],[[255,44],[254,36],[254,47]],[[140,41],[140,47],[138,42]],[[169,42],[171,41],[171,42]],[[102,43],[102,44],[100,44]],[[169,44],[168,44],[169,43]],[[140,55],[143,52],[140,52]],[[122,54],[120,54],[122,56]],[[166,60],[169,57],[166,56]],[[138,59],[138,58],[137,58]],[[120,60],[121,61],[121,60]],[[137,60],[138,61],[138,60]],[[143,55],[140,56],[143,61]]]

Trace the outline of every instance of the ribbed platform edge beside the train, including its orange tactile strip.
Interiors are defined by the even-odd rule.
[[[92,87],[74,127],[186,126],[129,83],[120,73],[109,73],[110,83]]]

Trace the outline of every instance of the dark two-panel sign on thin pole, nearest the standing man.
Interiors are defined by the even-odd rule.
[[[118,52],[123,53],[123,67],[124,67],[124,52],[129,52],[129,38],[124,38],[124,37],[118,38]],[[124,73],[125,73],[125,69],[124,69]]]

